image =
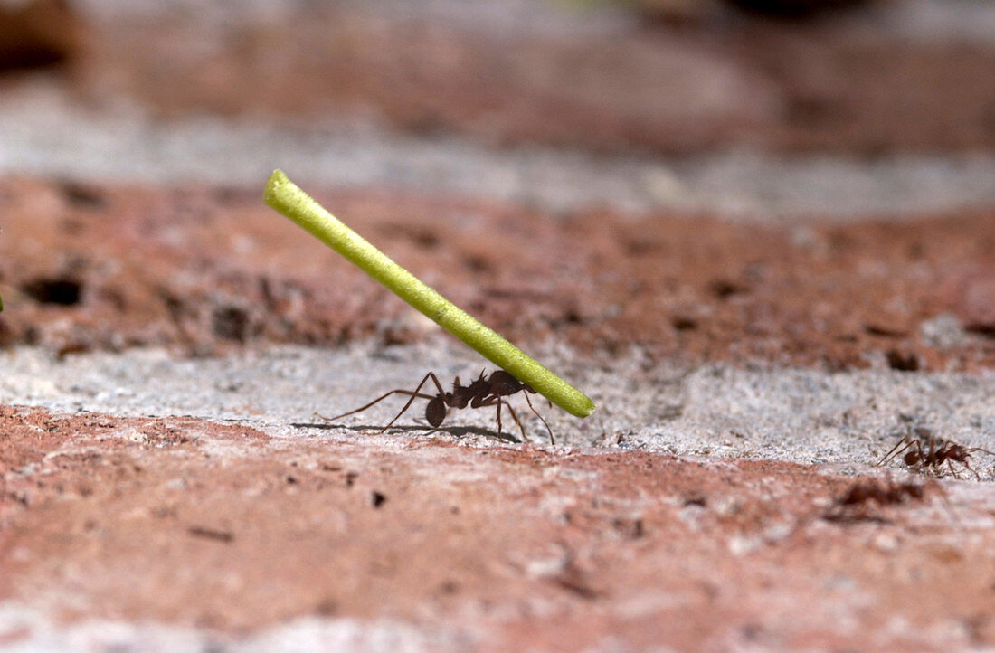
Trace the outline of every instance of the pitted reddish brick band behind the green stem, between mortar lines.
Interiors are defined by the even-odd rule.
[[[975,370],[995,362],[991,210],[775,228],[610,211],[553,218],[513,204],[382,192],[315,194],[519,341],[555,337],[594,352],[635,343],[657,357],[831,369]],[[400,301],[264,206],[257,192],[8,177],[0,179],[0,219],[6,343],[208,353],[423,334],[399,319]],[[954,332],[928,336],[924,325],[941,314],[954,318]]]

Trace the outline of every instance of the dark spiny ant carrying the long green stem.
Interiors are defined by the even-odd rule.
[[[436,389],[439,390],[438,394],[432,395],[421,392],[422,386],[425,385],[429,379],[432,379],[432,382],[435,383]],[[389,429],[394,422],[396,422],[397,419],[403,415],[409,407],[411,407],[411,403],[415,399],[428,399],[429,402],[425,405],[425,419],[434,427],[438,427],[443,423],[443,420],[446,419],[446,415],[449,414],[450,409],[462,409],[467,406],[470,406],[471,408],[497,406],[498,434],[501,432],[500,409],[501,406],[507,406],[508,411],[511,413],[511,419],[514,420],[514,423],[518,426],[518,430],[521,431],[522,439],[525,439],[525,428],[521,425],[521,421],[518,420],[518,416],[514,413],[514,409],[511,405],[502,398],[517,392],[522,392],[525,395],[525,401],[528,403],[528,407],[546,427],[546,431],[549,433],[549,441],[556,444],[556,439],[553,437],[553,432],[552,429],[549,428],[549,424],[546,423],[546,420],[542,418],[542,415],[535,410],[532,406],[532,402],[528,399],[528,395],[535,394],[535,390],[533,390],[531,386],[522,383],[503,369],[497,369],[491,372],[491,375],[488,377],[485,377],[484,372],[482,371],[481,375],[477,377],[477,380],[472,381],[470,385],[463,385],[460,383],[460,377],[457,376],[456,380],[453,381],[452,392],[443,390],[442,384],[439,382],[439,378],[434,372],[429,372],[425,375],[425,378],[422,379],[422,382],[418,384],[418,387],[416,387],[413,391],[403,389],[391,390],[390,392],[377,397],[373,401],[370,401],[365,406],[360,406],[359,408],[350,410],[347,413],[342,413],[341,415],[336,415],[335,417],[324,417],[323,415],[318,415],[318,417],[329,422],[334,421],[341,417],[366,410],[373,404],[383,401],[392,394],[406,394],[411,397],[408,399],[408,403],[404,404],[404,408],[401,408],[401,412],[397,413],[397,415],[394,416],[394,419],[390,420],[387,426],[380,429],[380,433],[383,433]]]

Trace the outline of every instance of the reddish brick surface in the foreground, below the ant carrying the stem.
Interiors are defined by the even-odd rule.
[[[481,650],[995,642],[990,497],[935,482],[845,505],[906,481],[17,407],[0,431],[0,593],[63,618],[389,616]]]

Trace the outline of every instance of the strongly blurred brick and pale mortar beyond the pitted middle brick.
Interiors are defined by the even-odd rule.
[[[988,0],[0,0],[0,172],[790,220],[995,202]]]

